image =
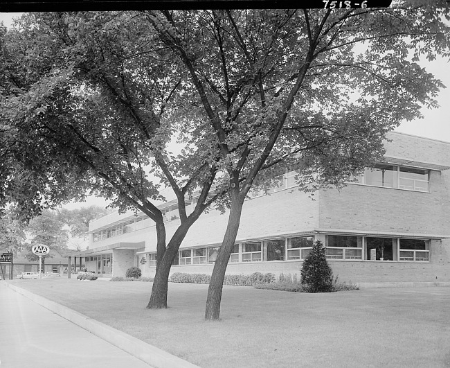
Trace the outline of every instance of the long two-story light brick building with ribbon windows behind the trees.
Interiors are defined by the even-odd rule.
[[[334,275],[353,283],[450,282],[450,143],[391,132],[384,162],[357,182],[321,190],[314,200],[293,175],[270,195],[244,203],[228,274],[300,274],[314,240],[326,245]],[[168,239],[179,225],[176,203],[161,206]],[[171,272],[213,270],[227,214],[200,216]],[[156,231],[143,213],[112,213],[89,225],[87,270],[123,276],[156,269]],[[76,261],[75,261],[76,263]]]

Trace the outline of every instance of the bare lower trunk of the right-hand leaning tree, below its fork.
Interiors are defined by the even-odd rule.
[[[230,216],[228,217],[224,240],[215,261],[213,274],[209,283],[205,310],[205,319],[207,320],[217,320],[220,316],[220,303],[222,301],[226,266],[228,265],[228,260],[235,245],[237,231],[239,230],[244,198],[245,195],[237,195],[231,201]]]

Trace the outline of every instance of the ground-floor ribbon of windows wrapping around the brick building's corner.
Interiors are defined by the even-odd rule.
[[[325,238],[327,259],[343,261],[430,261],[430,240],[317,234]],[[230,263],[301,261],[311,252],[315,236],[294,236],[237,243],[231,251]],[[220,247],[180,249],[172,265],[215,263]],[[156,266],[156,253],[149,254],[150,267]],[[99,260],[100,262],[100,260]],[[102,259],[104,268],[107,259]],[[105,263],[106,262],[106,263]],[[100,263],[99,263],[100,265]]]

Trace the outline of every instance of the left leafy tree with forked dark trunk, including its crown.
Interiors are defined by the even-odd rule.
[[[165,308],[170,266],[181,241],[222,195],[213,187],[217,143],[205,139],[210,132],[196,128],[191,136],[194,131],[169,124],[183,74],[165,67],[170,55],[154,46],[136,13],[26,15],[21,29],[4,38],[5,83],[15,87],[6,89],[1,110],[4,125],[12,127],[5,155],[20,167],[5,176],[15,183],[30,170],[33,176],[24,182],[50,204],[89,189],[114,198],[120,211],[147,214],[158,236],[148,307]],[[167,149],[174,132],[181,141],[190,136],[178,156]],[[163,215],[153,202],[162,199],[159,184],[148,174],[177,196],[181,225],[167,244]],[[36,184],[36,177],[50,180]],[[194,190],[199,198],[188,213],[186,201]],[[5,198],[28,208],[19,191],[6,191]],[[42,201],[33,202],[39,209]]]

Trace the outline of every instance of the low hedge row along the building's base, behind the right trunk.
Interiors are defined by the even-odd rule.
[[[209,274],[186,274],[175,272],[170,277],[170,281],[179,283],[209,283]],[[235,286],[253,286],[255,283],[272,283],[275,281],[275,275],[271,273],[262,274],[255,272],[253,274],[226,274],[224,285]]]

